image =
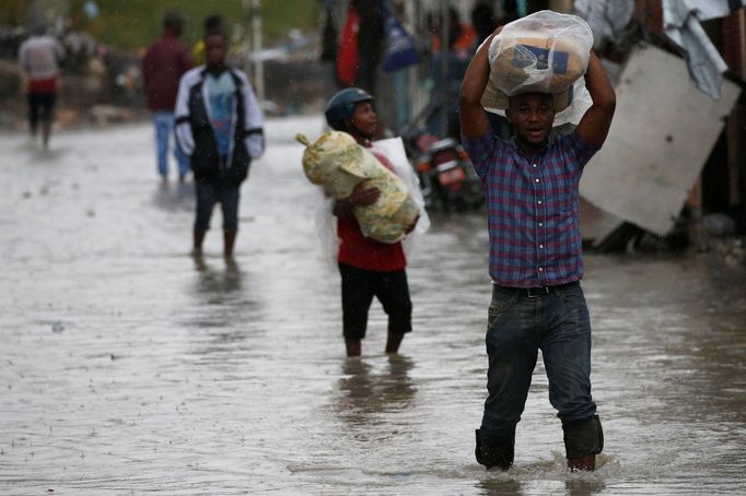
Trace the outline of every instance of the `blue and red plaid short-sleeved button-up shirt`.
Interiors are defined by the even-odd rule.
[[[598,147],[575,131],[533,158],[491,130],[462,141],[487,193],[492,282],[536,287],[582,279],[578,187]]]

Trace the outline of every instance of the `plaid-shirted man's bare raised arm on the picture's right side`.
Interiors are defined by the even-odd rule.
[[[578,125],[578,133],[586,143],[601,146],[611,127],[617,97],[604,66],[593,51],[588,59],[588,69],[585,71],[585,87],[591,94],[593,105]]]

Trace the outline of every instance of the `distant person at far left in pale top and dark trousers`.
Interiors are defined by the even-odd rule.
[[[55,102],[57,99],[57,78],[59,63],[65,57],[62,45],[40,27],[21,44],[19,62],[28,78],[28,125],[32,138],[36,139],[39,120],[42,122],[42,143],[49,146]]]

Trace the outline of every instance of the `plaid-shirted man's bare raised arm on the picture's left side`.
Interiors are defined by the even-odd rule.
[[[481,106],[481,95],[487,87],[490,76],[490,63],[488,52],[492,38],[500,33],[498,27],[489,38],[485,40],[477,54],[469,62],[464,74],[464,81],[458,95],[458,120],[461,131],[466,138],[476,139],[482,135],[490,127],[490,121]]]

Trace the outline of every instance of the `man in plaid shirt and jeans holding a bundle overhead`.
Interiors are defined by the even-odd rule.
[[[487,193],[492,279],[488,398],[476,457],[488,469],[513,464],[515,427],[540,350],[568,468],[594,470],[604,438],[591,395],[591,324],[579,283],[579,181],[606,139],[616,97],[592,52],[584,79],[593,104],[572,133],[550,139],[552,95],[524,93],[510,96],[505,111],[515,137],[496,137],[480,102],[490,78],[489,45],[501,29],[469,63],[459,99],[463,144]]]

